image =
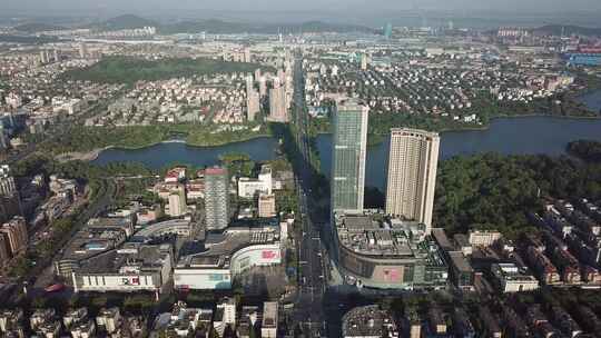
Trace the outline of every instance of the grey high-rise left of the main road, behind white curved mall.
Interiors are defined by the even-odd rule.
[[[229,176],[225,168],[205,170],[207,230],[223,230],[229,223]]]

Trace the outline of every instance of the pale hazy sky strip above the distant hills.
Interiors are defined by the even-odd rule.
[[[590,11],[601,10],[600,0],[0,0],[2,10],[136,11],[161,10],[503,10],[503,11]]]

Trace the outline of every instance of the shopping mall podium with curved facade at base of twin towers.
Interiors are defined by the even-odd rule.
[[[378,289],[439,288],[447,267],[423,225],[336,216],[337,267],[348,284]]]

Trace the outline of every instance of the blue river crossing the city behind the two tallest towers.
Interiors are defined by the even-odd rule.
[[[565,151],[568,142],[579,139],[601,141],[601,119],[502,118],[493,120],[486,130],[443,132],[441,159],[490,151],[505,155],[556,156]],[[321,135],[317,138],[323,172],[331,170],[331,135]],[[390,139],[385,139],[384,142],[368,148],[366,186],[381,189],[384,187],[388,145]],[[174,162],[213,166],[218,162],[221,153],[243,152],[255,161],[265,161],[276,157],[276,149],[277,141],[272,138],[257,138],[220,147],[190,147],[181,142],[168,142],[136,150],[108,149],[102,151],[93,163],[136,161],[150,168],[161,168]]]

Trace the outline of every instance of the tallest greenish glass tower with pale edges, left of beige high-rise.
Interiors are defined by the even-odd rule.
[[[363,211],[368,111],[368,107],[348,100],[334,112],[333,211]]]

